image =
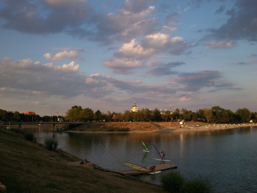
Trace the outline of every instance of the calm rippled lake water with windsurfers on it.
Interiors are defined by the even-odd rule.
[[[131,169],[124,161],[141,166],[161,162],[150,138],[165,152],[168,164],[177,165],[185,177],[211,176],[216,192],[257,192],[257,127],[199,132],[156,133],[57,133],[51,127],[32,130],[38,143],[47,137],[59,141],[58,148],[109,170]],[[149,138],[150,137],[150,138]],[[149,153],[143,151],[140,141]],[[163,171],[167,172],[167,171]],[[161,174],[161,173],[160,173]],[[160,184],[160,174],[137,177]]]

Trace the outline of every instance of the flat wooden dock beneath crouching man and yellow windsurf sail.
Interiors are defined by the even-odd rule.
[[[155,165],[155,166],[156,166],[155,171],[163,171],[163,170],[178,168],[177,165],[171,165],[171,164],[166,164],[166,163]],[[146,168],[150,169],[150,166],[146,167]],[[115,172],[127,174],[127,175],[138,175],[138,174],[145,174],[148,171],[138,171],[136,169],[131,169],[131,170],[119,170],[119,171],[115,171]]]

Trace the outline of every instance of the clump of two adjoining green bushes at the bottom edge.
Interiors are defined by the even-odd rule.
[[[161,175],[161,185],[168,192],[211,193],[214,192],[211,177],[192,176],[184,178],[180,171],[169,171]]]

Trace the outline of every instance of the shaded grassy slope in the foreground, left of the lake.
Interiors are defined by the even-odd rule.
[[[78,158],[52,152],[0,128],[0,181],[7,192],[160,192],[113,173],[65,164]]]

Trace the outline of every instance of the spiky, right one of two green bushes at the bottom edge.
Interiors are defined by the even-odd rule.
[[[198,176],[192,176],[191,179],[187,180],[185,186],[183,187],[183,192],[185,193],[210,193],[213,192],[213,185],[211,181],[211,177],[203,177],[198,174]]]

